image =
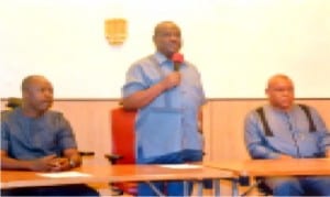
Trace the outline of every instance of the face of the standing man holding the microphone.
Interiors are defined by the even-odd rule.
[[[158,52],[170,58],[182,47],[180,30],[173,23],[164,23],[157,29],[154,43]]]

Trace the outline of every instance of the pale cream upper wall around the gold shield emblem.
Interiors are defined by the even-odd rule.
[[[329,13],[327,0],[0,0],[0,96],[40,74],[57,98],[120,98],[129,66],[154,52],[154,25],[173,20],[209,98],[262,98],[276,73],[297,97],[330,98]],[[128,21],[121,46],[105,39],[111,18]]]

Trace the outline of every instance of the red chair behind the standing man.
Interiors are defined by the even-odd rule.
[[[112,154],[106,157],[111,164],[135,164],[135,110],[124,110],[123,107],[110,111]],[[138,195],[138,184],[120,183],[111,185],[118,195],[123,193]]]

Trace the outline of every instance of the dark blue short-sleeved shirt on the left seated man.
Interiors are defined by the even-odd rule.
[[[1,117],[1,150],[10,157],[34,160],[77,147],[73,130],[62,113],[47,111],[29,118],[21,108]]]

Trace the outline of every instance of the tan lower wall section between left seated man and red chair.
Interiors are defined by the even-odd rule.
[[[55,101],[53,109],[69,119],[81,151],[95,151],[102,157],[111,151],[110,110],[118,106],[116,100]]]

